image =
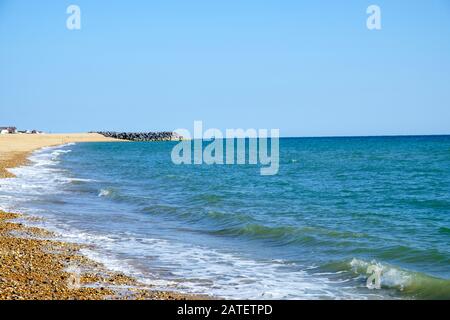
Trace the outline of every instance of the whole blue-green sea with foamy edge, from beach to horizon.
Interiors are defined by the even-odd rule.
[[[231,298],[450,299],[450,137],[280,141],[280,171],[172,164],[175,143],[48,148],[1,182],[84,253]],[[382,268],[380,290],[367,267]]]

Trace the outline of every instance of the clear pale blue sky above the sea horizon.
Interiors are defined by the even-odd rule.
[[[66,29],[66,8],[82,29]],[[366,9],[382,10],[382,30]],[[448,0],[0,0],[0,126],[450,133]]]

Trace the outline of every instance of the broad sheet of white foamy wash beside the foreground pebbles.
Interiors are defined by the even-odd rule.
[[[93,234],[54,225],[53,221],[45,223],[55,232],[56,239],[86,244],[81,249],[83,255],[110,270],[135,277],[155,290],[208,293],[230,299],[364,298],[353,292],[340,292],[333,287],[336,282],[311,276],[303,268],[281,259],[257,261],[178,241],[136,237],[133,233]],[[122,258],[118,258],[117,252]],[[123,259],[135,253],[146,254],[144,260],[150,263],[150,271],[142,268],[142,259]]]

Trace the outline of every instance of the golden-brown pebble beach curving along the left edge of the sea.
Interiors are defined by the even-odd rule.
[[[13,178],[8,168],[25,165],[44,147],[77,142],[112,142],[98,134],[0,136],[0,179]],[[1,180],[0,180],[1,184]],[[123,273],[112,272],[80,253],[82,245],[56,241],[45,229],[26,226],[22,213],[0,210],[0,299],[196,300],[206,296],[154,291]]]

